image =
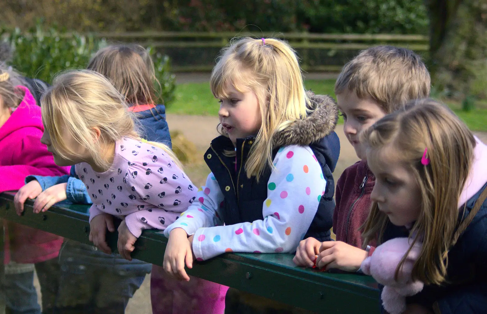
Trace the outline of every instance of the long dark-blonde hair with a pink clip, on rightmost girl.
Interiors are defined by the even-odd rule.
[[[423,246],[412,277],[425,284],[441,284],[446,280],[460,194],[473,161],[472,133],[448,107],[424,99],[377,121],[361,134],[360,141],[375,152],[392,145],[413,173],[421,189],[421,212],[411,230],[416,234],[412,245],[422,240]],[[426,166],[421,163],[425,148],[430,159]],[[387,222],[387,215],[374,202],[362,226],[364,246],[373,239],[382,240]],[[397,266],[396,277],[404,260]]]

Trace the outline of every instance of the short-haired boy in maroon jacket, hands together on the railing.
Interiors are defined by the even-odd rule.
[[[371,206],[375,177],[367,166],[359,134],[409,100],[430,94],[431,78],[419,55],[409,49],[378,46],[362,51],[348,62],[335,84],[343,131],[361,161],[345,169],[337,181],[333,232],[337,241],[302,240],[294,261],[356,272],[374,246],[362,249],[360,226]],[[318,255],[318,257],[316,257]]]

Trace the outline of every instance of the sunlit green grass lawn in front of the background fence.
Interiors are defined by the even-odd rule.
[[[306,88],[318,94],[333,92],[335,80],[308,80]],[[462,111],[460,105],[449,103],[450,108],[467,123],[473,131],[487,131],[487,106],[481,105],[469,112]],[[168,113],[190,115],[217,115],[218,101],[211,94],[209,83],[187,83],[176,86],[175,100],[169,105]],[[341,117],[338,123],[341,123]]]

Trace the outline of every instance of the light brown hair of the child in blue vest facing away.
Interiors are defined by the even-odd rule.
[[[88,70],[108,77],[130,105],[153,104],[156,101],[154,63],[140,45],[111,45],[96,52]]]

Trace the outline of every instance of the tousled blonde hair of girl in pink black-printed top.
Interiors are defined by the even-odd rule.
[[[41,98],[42,119],[53,145],[65,159],[74,154],[63,139],[68,130],[75,141],[93,157],[96,166],[111,165],[102,158],[101,147],[127,136],[140,139],[133,113],[127,110],[125,97],[105,76],[89,70],[71,70],[56,76],[53,85]],[[94,130],[101,131],[93,142]],[[164,144],[148,142],[162,148],[179,166],[181,163]]]

